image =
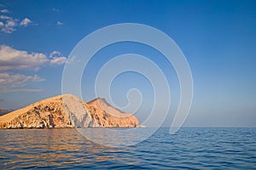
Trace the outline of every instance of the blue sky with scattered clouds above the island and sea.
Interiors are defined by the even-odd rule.
[[[185,126],[255,127],[255,8],[253,0],[0,1],[0,109],[18,109],[61,94],[65,59],[76,44],[104,26],[130,22],[164,31],[188,59],[194,100]],[[101,65],[125,53],[143,54],[160,65],[175,110],[179,88],[172,65],[155,57],[160,54],[153,49],[131,42],[113,44],[96,54],[89,73],[84,73],[83,98],[94,98],[93,76]],[[141,111],[150,110],[152,88],[143,77],[127,73],[114,84],[113,99],[119,105],[126,101],[121,94],[137,86],[145,96]],[[170,115],[165,126],[172,122]]]

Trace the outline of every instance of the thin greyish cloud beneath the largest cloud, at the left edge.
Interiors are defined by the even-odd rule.
[[[0,93],[20,92],[20,91],[38,91],[40,89],[24,89],[28,82],[42,82],[44,79],[34,76],[25,76],[21,74],[0,73]]]

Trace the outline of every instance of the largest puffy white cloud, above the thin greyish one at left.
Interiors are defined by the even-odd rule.
[[[67,58],[54,51],[49,58],[42,53],[28,53],[26,51],[0,46],[0,71],[33,70],[38,71],[44,65],[62,65]]]

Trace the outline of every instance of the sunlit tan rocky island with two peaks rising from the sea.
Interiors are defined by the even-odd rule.
[[[86,103],[72,94],[44,99],[0,116],[0,128],[138,126],[135,116],[114,109],[103,99]]]

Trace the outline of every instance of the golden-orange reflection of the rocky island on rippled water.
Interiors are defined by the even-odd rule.
[[[96,135],[100,136],[101,133],[96,133]],[[124,161],[125,159],[115,157],[115,153],[123,152],[125,149],[95,144],[84,139],[72,128],[5,130],[3,135],[1,133],[0,144],[0,164],[14,169],[42,166],[73,167],[77,162],[83,162],[86,167],[86,165],[91,165],[91,161],[110,159]],[[19,166],[15,167],[15,165]]]

